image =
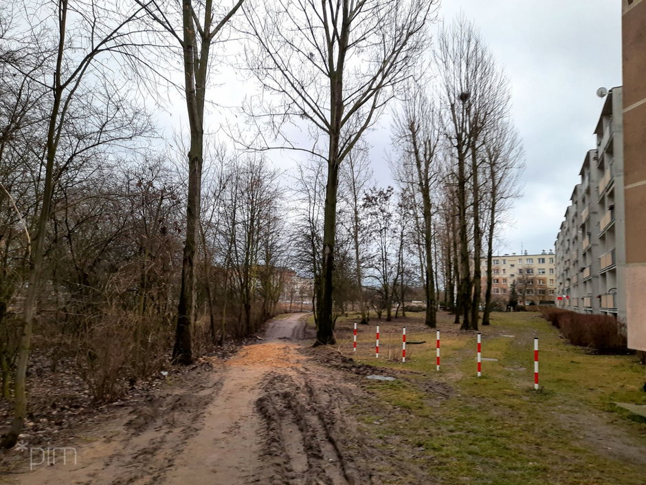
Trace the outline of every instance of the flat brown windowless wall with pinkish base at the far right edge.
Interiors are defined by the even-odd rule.
[[[627,337],[646,351],[646,1],[621,6]]]

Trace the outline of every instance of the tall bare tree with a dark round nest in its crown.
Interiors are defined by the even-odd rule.
[[[509,88],[474,24],[464,17],[459,17],[439,35],[436,64],[446,107],[445,133],[457,165],[454,173],[459,221],[460,313],[463,329],[477,330],[482,258],[480,171],[485,156],[482,150],[487,131],[509,115]],[[472,254],[469,226],[473,231]]]

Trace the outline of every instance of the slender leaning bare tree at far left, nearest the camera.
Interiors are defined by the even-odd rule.
[[[31,25],[31,29],[14,37],[15,42],[27,45],[28,52],[21,54],[16,61],[15,56],[10,56],[12,68],[22,76],[29,76],[42,83],[48,91],[47,99],[47,129],[44,140],[44,175],[42,197],[38,207],[38,222],[34,227],[34,244],[30,259],[30,270],[25,299],[23,301],[23,331],[19,345],[19,357],[16,364],[16,378],[14,382],[14,421],[12,428],[5,435],[3,446],[13,446],[23,428],[27,412],[25,394],[25,374],[27,361],[30,354],[32,327],[36,310],[36,295],[41,284],[43,271],[43,255],[45,251],[45,233],[52,207],[52,195],[57,177],[65,172],[71,160],[78,155],[97,147],[101,144],[118,142],[122,137],[131,138],[135,133],[124,134],[112,132],[110,127],[115,121],[119,124],[124,120],[126,113],[119,113],[118,103],[107,98],[109,105],[104,114],[109,116],[109,121],[103,129],[99,129],[96,137],[80,138],[78,143],[71,147],[67,157],[58,158],[59,146],[67,142],[64,133],[69,129],[70,114],[74,111],[77,100],[82,100],[82,94],[93,86],[101,85],[102,78],[100,67],[102,60],[111,56],[127,52],[131,42],[127,31],[140,15],[140,9],[126,9],[120,12],[113,8],[113,4],[90,1],[82,6],[69,6],[68,0],[54,2],[52,11],[45,12],[45,21]],[[25,12],[27,12],[25,10]],[[29,15],[29,12],[27,12]],[[30,19],[25,20],[30,25]],[[69,43],[68,34],[74,30],[74,46]],[[49,60],[52,60],[51,62]],[[46,60],[46,61],[43,61]],[[32,72],[32,67],[43,65],[43,68]],[[103,85],[107,85],[106,76]],[[114,91],[113,91],[114,92]],[[116,111],[115,111],[116,110]],[[96,118],[88,116],[86,124],[96,122]],[[131,118],[133,121],[133,118]]]

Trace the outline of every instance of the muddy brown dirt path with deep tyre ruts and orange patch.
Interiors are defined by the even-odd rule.
[[[341,411],[355,389],[303,354],[303,316],[270,321],[262,343],[210,363],[197,382],[80,433],[69,444],[76,464],[71,449],[51,466],[40,451],[25,455],[10,483],[370,484]]]

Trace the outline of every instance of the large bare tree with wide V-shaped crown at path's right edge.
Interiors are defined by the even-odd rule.
[[[271,93],[269,122],[282,148],[327,166],[317,343],[334,342],[333,272],[339,166],[427,46],[435,0],[276,0],[245,8],[254,44],[249,67]],[[252,113],[254,115],[254,113]],[[283,122],[307,123],[309,147],[287,140]],[[322,137],[322,138],[319,138]],[[271,147],[265,144],[264,148]],[[262,147],[261,147],[262,148]]]

